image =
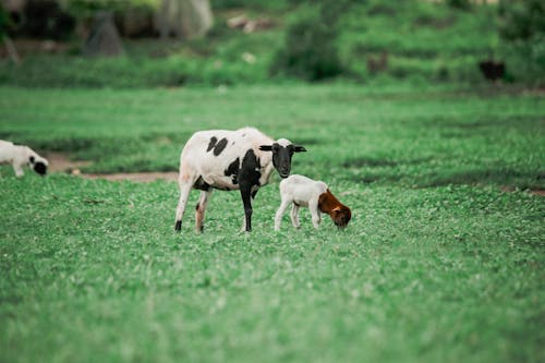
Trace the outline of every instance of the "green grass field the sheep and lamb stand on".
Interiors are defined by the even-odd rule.
[[[241,233],[216,192],[204,234],[175,183],[0,168],[2,362],[543,362],[545,101],[514,88],[0,87],[0,138],[175,170],[192,132],[303,144],[295,173],[353,210],[279,233],[278,177]],[[510,192],[506,192],[509,190]],[[190,206],[196,202],[192,194]]]

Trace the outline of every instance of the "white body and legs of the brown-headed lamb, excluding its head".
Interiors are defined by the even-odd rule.
[[[312,215],[312,223],[314,228],[318,228],[322,221],[318,199],[326,191],[326,183],[303,176],[292,174],[282,180],[280,182],[281,203],[275,216],[275,230],[280,230],[282,215],[290,204],[293,204],[291,209],[291,222],[293,227],[301,227],[299,222],[299,208],[308,207]]]

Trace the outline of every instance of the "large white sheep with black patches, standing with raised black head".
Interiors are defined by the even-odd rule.
[[[210,130],[193,134],[180,156],[180,201],[174,229],[180,231],[192,189],[201,191],[195,213],[195,230],[203,230],[206,205],[214,189],[240,190],[244,205],[243,230],[252,230],[252,201],[267,184],[272,169],[287,178],[293,153],[306,152],[286,138],[274,141],[261,131],[244,128],[237,131]]]

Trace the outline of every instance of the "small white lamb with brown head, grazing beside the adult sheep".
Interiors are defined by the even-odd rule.
[[[352,217],[350,208],[341,204],[329,191],[326,183],[315,181],[303,176],[293,174],[280,182],[280,197],[282,202],[275,216],[275,230],[280,230],[280,222],[286,208],[293,204],[291,221],[299,228],[299,208],[308,207],[314,228],[318,228],[320,213],[327,213],[337,227],[347,227]]]

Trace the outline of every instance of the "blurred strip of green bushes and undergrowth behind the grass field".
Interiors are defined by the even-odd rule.
[[[4,2],[12,4],[4,7],[0,32],[13,40],[21,61],[7,61],[3,51],[2,84],[482,84],[483,62],[501,64],[504,72],[495,77],[505,83],[543,86],[545,81],[540,0],[211,0],[204,3],[213,23],[197,36],[172,20],[182,16],[172,14],[175,3],[191,3],[186,0]],[[165,3],[171,13],[161,17]],[[121,36],[119,57],[84,56],[100,10],[111,12]]]

